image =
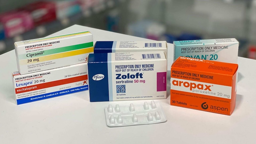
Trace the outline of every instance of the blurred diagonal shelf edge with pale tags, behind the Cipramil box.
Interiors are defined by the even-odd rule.
[[[41,26],[37,26],[34,29],[31,29],[30,31],[27,31],[18,36],[2,39],[0,40],[0,55],[2,53],[6,53],[10,50],[13,50],[14,42],[45,37],[49,34],[55,33],[74,24],[79,24],[82,20],[87,18],[89,19],[96,14],[100,14],[101,12],[104,12],[106,10],[110,10],[111,8],[116,7],[118,4],[124,1],[125,0],[106,0],[94,7],[91,7],[87,10],[84,10],[83,12],[72,15],[68,18],[54,20],[50,23],[45,23],[42,24]]]

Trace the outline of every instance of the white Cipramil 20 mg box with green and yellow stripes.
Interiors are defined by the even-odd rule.
[[[86,62],[93,53],[89,31],[15,42],[21,75]]]

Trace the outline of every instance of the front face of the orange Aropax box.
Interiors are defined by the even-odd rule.
[[[230,115],[232,76],[222,75],[220,79],[217,77],[219,74],[208,73],[205,77],[198,71],[190,71],[191,76],[184,76],[182,74],[190,74],[174,73],[177,71],[182,72],[183,69],[171,70],[170,105]],[[221,85],[215,78],[230,83]]]

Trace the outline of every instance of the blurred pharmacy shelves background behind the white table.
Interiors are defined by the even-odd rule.
[[[256,0],[0,0],[0,54],[74,24],[169,43],[236,38],[256,59]]]

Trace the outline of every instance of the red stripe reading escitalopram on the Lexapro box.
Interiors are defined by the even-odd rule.
[[[35,91],[35,90],[39,90],[42,88],[50,88],[53,86],[60,86],[60,85],[74,83],[74,82],[78,82],[78,81],[82,81],[82,80],[88,80],[88,76],[81,75],[78,77],[71,77],[71,78],[67,78],[67,79],[63,79],[63,80],[56,80],[56,81],[52,81],[52,82],[48,82],[48,83],[41,83],[41,84],[33,85],[33,86],[15,88],[15,93],[19,94],[19,93],[24,93],[24,92],[28,92],[28,91]],[[33,87],[36,87],[36,88],[33,88]],[[33,88],[33,89],[31,89],[31,88]],[[23,89],[26,89],[26,90],[23,91]]]

